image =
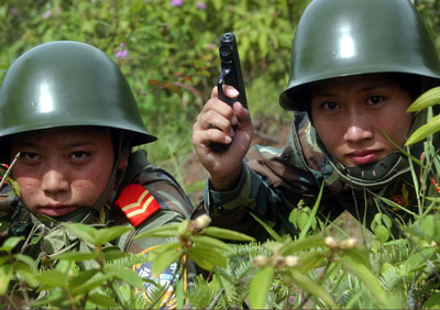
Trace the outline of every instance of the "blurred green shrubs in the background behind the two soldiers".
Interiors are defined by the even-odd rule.
[[[183,182],[193,123],[219,75],[220,35],[235,33],[252,117],[276,132],[290,121],[277,100],[288,80],[295,26],[309,2],[1,0],[0,81],[35,45],[72,40],[97,46],[121,67],[148,131],[160,137],[146,146],[150,159]],[[440,47],[440,1],[414,2]]]

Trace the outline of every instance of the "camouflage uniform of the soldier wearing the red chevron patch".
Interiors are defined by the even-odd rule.
[[[139,223],[134,230],[113,241],[112,245],[118,246],[123,252],[142,253],[147,255],[148,250],[167,242],[167,240],[147,237],[133,241],[133,236],[168,223],[182,222],[184,219],[189,218],[193,211],[193,204],[177,181],[166,170],[148,163],[145,156],[146,154],[142,150],[131,154],[129,158],[129,166],[120,188],[123,189],[133,185],[142,186],[144,190],[154,197],[153,202],[157,203],[148,203],[145,202],[145,199],[140,199],[142,201],[140,201],[139,206],[135,207],[145,207],[145,212],[143,213],[148,213],[150,215],[143,219],[143,221]],[[124,195],[123,191],[116,197],[113,201],[118,201],[122,195]],[[1,198],[3,200],[3,206],[6,204],[6,197],[7,193],[4,193],[3,198]],[[139,197],[127,198],[127,201],[139,200]],[[31,231],[35,232],[34,229],[36,226],[40,225],[41,228],[44,228],[44,236],[41,239],[41,242],[26,247],[24,251],[24,254],[35,258],[36,262],[40,263],[45,257],[51,257],[55,254],[72,248],[86,252],[94,251],[94,248],[88,247],[87,244],[78,241],[76,236],[67,235],[63,228],[57,225],[57,221],[54,219],[51,219],[46,215],[33,215],[30,213],[18,198],[13,199],[12,201],[10,200],[8,204],[10,204],[11,210],[14,211],[10,222],[8,236],[22,235],[30,237]],[[114,202],[112,204],[113,206],[106,204],[101,212],[97,212],[92,209],[84,211],[80,210],[81,212],[68,214],[65,220],[94,224],[96,226],[132,226],[133,224],[129,221],[128,217],[120,211],[120,209],[122,209],[124,206],[119,206],[118,208],[114,206]],[[158,208],[153,208],[155,206]],[[68,237],[68,242],[66,242],[66,237]],[[72,246],[72,244],[75,246]],[[152,279],[150,263],[144,263],[140,266],[136,266],[134,269],[141,276]],[[186,276],[191,276],[194,274],[195,266],[191,262],[189,262],[188,275]],[[160,280],[162,284],[164,284],[172,277],[173,265],[168,267],[162,275],[160,275]],[[145,289],[147,289],[146,283]]]

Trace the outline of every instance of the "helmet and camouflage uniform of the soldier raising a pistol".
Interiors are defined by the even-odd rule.
[[[290,211],[300,199],[312,207],[322,184],[318,210],[321,218],[332,220],[348,210],[361,222],[365,218],[370,228],[380,209],[396,211],[375,199],[377,195],[414,208],[407,157],[392,152],[371,165],[344,167],[323,147],[307,117],[311,112],[310,84],[389,73],[399,77],[400,86],[413,99],[440,80],[436,46],[410,1],[311,1],[296,26],[289,81],[279,97],[279,104],[294,111],[288,145],[284,150],[252,150],[231,191],[216,192],[208,184],[204,203],[212,223],[264,239],[264,229],[248,214],[251,210],[278,232],[295,234],[288,222]],[[415,113],[411,132],[426,123],[424,113]],[[433,145],[438,150],[438,136]],[[422,151],[422,142],[410,147],[416,158]]]

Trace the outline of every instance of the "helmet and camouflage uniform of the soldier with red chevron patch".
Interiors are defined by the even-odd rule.
[[[124,252],[147,255],[153,246],[167,242],[164,239],[133,241],[133,236],[167,223],[182,222],[189,218],[193,206],[176,180],[148,163],[144,152],[131,154],[128,167],[122,170],[124,165],[120,164],[125,154],[135,146],[157,140],[146,130],[122,71],[106,53],[89,44],[72,41],[41,44],[18,57],[2,80],[0,163],[11,164],[9,147],[14,135],[70,126],[105,128],[111,134],[114,163],[111,171],[103,171],[110,173],[106,188],[94,206],[85,206],[56,219],[32,214],[18,198],[3,201],[0,207],[11,207],[7,208],[6,214],[10,222],[8,235],[28,237],[23,253],[37,262],[70,248],[94,251],[57,224],[64,221],[97,228],[134,226],[132,232],[112,244]],[[9,199],[10,195],[7,196]],[[28,242],[40,232],[43,237],[37,244]],[[3,233],[2,237],[8,235]],[[135,269],[150,277],[150,267],[144,264]],[[174,267],[172,265],[161,275],[161,283],[173,278]]]

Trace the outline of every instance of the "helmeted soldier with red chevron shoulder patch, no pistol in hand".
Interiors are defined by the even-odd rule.
[[[69,41],[28,51],[0,89],[0,163],[20,154],[11,169],[20,197],[1,202],[13,213],[9,235],[28,236],[43,224],[44,244],[24,252],[40,262],[68,245],[54,229],[61,222],[129,225],[134,230],[113,245],[147,255],[164,240],[133,236],[193,212],[177,181],[150,163],[145,151],[132,152],[155,140],[121,70],[103,52]],[[174,268],[160,276],[162,284]],[[151,277],[150,263],[136,272]]]

